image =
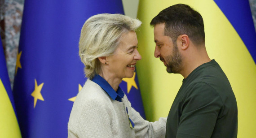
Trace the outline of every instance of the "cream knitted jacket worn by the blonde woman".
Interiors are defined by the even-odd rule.
[[[130,127],[128,116],[134,128]],[[68,138],[164,138],[166,119],[145,121],[131,107],[126,95],[122,102],[113,100],[101,86],[88,79],[75,99]]]

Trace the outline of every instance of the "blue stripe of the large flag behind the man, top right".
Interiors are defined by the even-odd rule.
[[[256,63],[256,32],[248,0],[214,0],[237,31]]]

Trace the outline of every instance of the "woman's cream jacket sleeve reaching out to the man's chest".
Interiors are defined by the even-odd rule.
[[[167,117],[159,118],[159,121],[149,122],[144,120],[140,113],[131,108],[131,115],[133,123],[135,124],[136,138],[164,138],[166,130]]]

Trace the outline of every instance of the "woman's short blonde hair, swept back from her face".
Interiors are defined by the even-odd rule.
[[[86,77],[92,79],[101,65],[98,57],[111,56],[123,34],[135,31],[141,21],[122,14],[97,14],[84,23],[79,40],[79,56]]]

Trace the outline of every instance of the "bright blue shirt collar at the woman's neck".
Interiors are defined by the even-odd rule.
[[[122,102],[122,98],[124,97],[124,91],[118,86],[117,91],[115,91],[110,84],[102,78],[100,75],[95,75],[92,79],[93,82],[97,83],[102,87],[104,91],[113,99],[119,102]]]

